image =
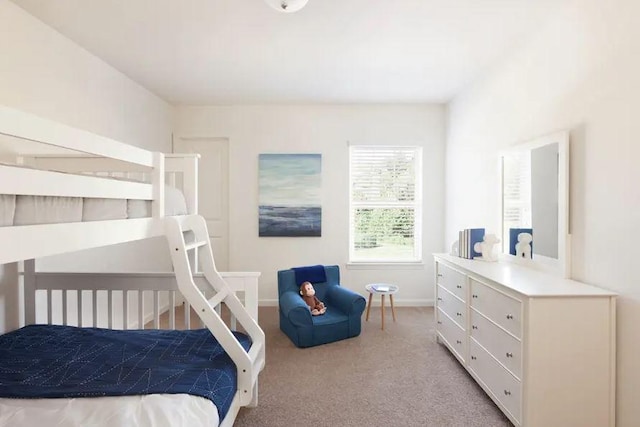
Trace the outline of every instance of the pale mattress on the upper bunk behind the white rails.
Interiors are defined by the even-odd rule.
[[[186,215],[180,190],[165,186],[165,215]],[[60,222],[106,221],[151,216],[148,200],[0,194],[0,227]]]

